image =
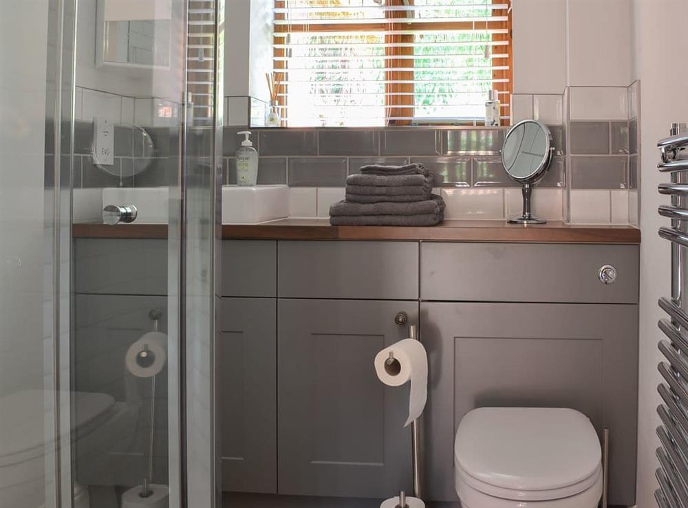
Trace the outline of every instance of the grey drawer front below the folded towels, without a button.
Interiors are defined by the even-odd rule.
[[[281,241],[282,298],[418,299],[418,243]]]

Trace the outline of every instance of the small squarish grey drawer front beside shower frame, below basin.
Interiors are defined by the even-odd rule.
[[[222,242],[222,296],[276,296],[277,242]]]

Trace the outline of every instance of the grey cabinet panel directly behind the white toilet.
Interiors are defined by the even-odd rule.
[[[567,407],[610,429],[610,504],[634,504],[636,305],[422,303],[430,362],[425,478],[456,500],[453,443],[470,410]]]

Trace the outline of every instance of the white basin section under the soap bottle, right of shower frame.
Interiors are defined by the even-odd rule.
[[[286,185],[222,186],[222,223],[255,224],[289,216]]]

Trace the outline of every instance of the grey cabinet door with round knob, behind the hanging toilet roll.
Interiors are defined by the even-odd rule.
[[[279,493],[387,498],[411,491],[408,384],[377,378],[380,349],[408,337],[418,302],[279,300]]]

